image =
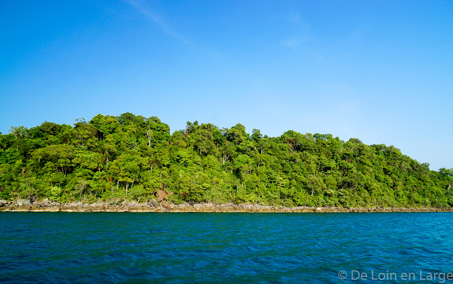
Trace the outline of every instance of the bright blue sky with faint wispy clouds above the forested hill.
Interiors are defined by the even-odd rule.
[[[453,1],[2,1],[0,132],[97,114],[453,167]]]

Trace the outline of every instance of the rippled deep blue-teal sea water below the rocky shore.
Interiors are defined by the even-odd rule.
[[[452,213],[4,212],[0,283],[443,283],[452,228]]]

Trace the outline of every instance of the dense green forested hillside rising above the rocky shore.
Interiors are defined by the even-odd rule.
[[[453,170],[429,170],[394,146],[241,124],[98,114],[0,134],[0,199],[97,199],[274,206],[453,206]]]

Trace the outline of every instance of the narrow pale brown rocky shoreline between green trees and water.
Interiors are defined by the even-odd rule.
[[[284,207],[260,206],[258,204],[215,204],[215,203],[58,203],[44,199],[30,202],[0,200],[0,211],[4,212],[219,212],[219,213],[371,213],[371,212],[453,212],[453,208],[342,208],[342,207]]]

